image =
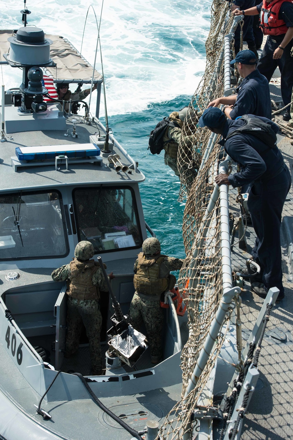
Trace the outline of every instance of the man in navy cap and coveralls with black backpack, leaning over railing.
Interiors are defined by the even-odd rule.
[[[248,129],[249,123],[254,124],[254,131]],[[206,109],[198,125],[222,135],[220,144],[240,165],[240,171],[234,174],[216,176],[216,183],[234,188],[250,184],[247,205],[256,232],[252,256],[261,267],[260,279],[251,284],[251,289],[265,298],[271,287],[277,287],[280,301],[284,298],[280,228],[291,175],[276,145],[278,125],[265,117],[253,115],[231,121],[216,107]]]

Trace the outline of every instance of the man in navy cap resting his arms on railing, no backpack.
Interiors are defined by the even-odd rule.
[[[237,95],[221,96],[209,103],[209,107],[224,104],[223,112],[230,119],[254,114],[271,119],[271,95],[267,78],[256,69],[256,57],[252,51],[240,51],[231,64],[236,64],[244,80],[239,85]]]

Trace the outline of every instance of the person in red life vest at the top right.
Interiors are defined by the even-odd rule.
[[[271,77],[278,67],[281,72],[281,93],[284,106],[291,102],[293,87],[293,3],[290,0],[263,0],[258,6],[236,10],[234,15],[258,15],[260,14],[260,27],[267,35],[257,68],[266,78]],[[289,121],[290,112],[287,108],[283,115],[285,121]]]

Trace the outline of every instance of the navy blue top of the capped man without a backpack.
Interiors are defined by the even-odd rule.
[[[271,119],[271,95],[267,78],[256,69],[244,78],[237,88],[237,100],[231,119],[244,114],[254,114]]]

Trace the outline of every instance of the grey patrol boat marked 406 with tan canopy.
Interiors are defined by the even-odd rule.
[[[1,63],[23,70],[19,88],[2,86],[1,438],[141,438],[137,432],[164,418],[180,398],[187,316],[177,315],[169,298],[158,365],[150,363],[149,350],[134,364],[129,348],[125,363],[107,355],[106,375],[90,376],[85,334],[77,355],[64,359],[66,285],[54,282],[51,272],[70,262],[78,242],[92,242],[95,260],[102,257],[115,275],[111,288],[126,315],[134,262],[143,240],[154,233],[139,195],[145,176],[99,121],[103,77],[96,71],[92,77],[92,66],[65,38],[26,26],[29,11],[22,13],[25,26],[1,31]],[[66,113],[64,101],[48,96],[44,72],[45,84],[56,72],[55,84],[97,84],[95,115],[83,102],[84,115],[72,114],[71,101]],[[100,304],[105,354],[113,301],[117,306],[103,296]],[[101,411],[92,394],[110,411]]]

